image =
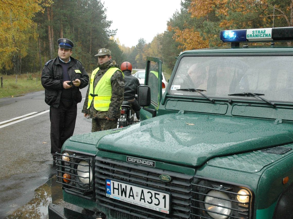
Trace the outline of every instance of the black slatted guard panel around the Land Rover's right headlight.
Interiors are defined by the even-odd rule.
[[[246,189],[250,192],[248,195],[248,202],[241,203],[237,200],[237,195],[239,195],[237,192],[240,189]],[[213,192],[209,193],[211,191]],[[208,193],[209,195],[207,195]],[[218,216],[223,215],[222,218],[229,219],[251,218],[252,194],[248,188],[195,178],[195,183],[192,184],[192,194],[192,215],[195,216],[195,218],[212,218],[211,214],[215,213],[217,213]],[[222,195],[222,197],[219,198],[219,195]],[[210,198],[215,198],[219,204],[211,204]],[[227,204],[225,205],[224,203]],[[222,213],[219,213],[219,211],[216,212],[216,209],[221,209]]]

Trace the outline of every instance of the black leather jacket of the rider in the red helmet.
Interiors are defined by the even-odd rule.
[[[135,94],[137,94],[137,87],[140,85],[139,80],[131,75],[130,71],[123,71],[124,73],[124,100],[133,100]]]

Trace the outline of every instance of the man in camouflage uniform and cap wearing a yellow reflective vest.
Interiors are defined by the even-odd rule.
[[[124,93],[124,75],[109,49],[99,49],[81,112],[92,118],[92,132],[117,128]]]

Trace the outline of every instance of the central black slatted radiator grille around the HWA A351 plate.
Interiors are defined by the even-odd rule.
[[[161,174],[172,178],[171,182],[162,182]],[[105,179],[117,180],[138,187],[170,193],[170,213],[162,213],[149,208],[112,199],[105,195]],[[95,188],[96,201],[110,209],[113,218],[191,218],[191,183],[193,176],[172,171],[160,170],[119,160],[96,157]],[[115,214],[114,214],[115,213]]]

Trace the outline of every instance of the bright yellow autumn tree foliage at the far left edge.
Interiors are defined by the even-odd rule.
[[[21,59],[26,56],[30,37],[35,39],[33,16],[42,10],[42,0],[0,0],[0,69],[21,71]]]

